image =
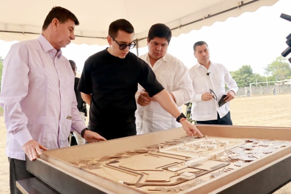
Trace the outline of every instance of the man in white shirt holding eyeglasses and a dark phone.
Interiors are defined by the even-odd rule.
[[[197,64],[189,69],[193,81],[192,119],[197,124],[232,125],[229,101],[238,90],[235,80],[228,70],[219,63],[212,63],[206,42],[199,41],[193,46]],[[225,92],[225,84],[229,92]],[[225,97],[222,96],[226,94]],[[219,101],[225,104],[219,106]]]

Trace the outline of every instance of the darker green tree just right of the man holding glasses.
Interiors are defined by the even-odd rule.
[[[257,82],[265,82],[266,78],[257,74],[253,73],[253,69],[250,65],[243,65],[239,70],[234,72],[230,72],[230,75],[236,80],[236,83],[239,87],[247,87],[250,86],[250,83],[255,83],[256,79]]]

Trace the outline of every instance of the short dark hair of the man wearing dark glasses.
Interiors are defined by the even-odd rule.
[[[113,21],[109,25],[108,35],[112,36],[113,38],[116,38],[119,30],[125,31],[129,34],[134,33],[133,26],[126,19],[118,19],[118,20]]]

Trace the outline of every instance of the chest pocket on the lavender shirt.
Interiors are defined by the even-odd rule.
[[[59,89],[59,80],[55,69],[44,67],[33,67],[30,84],[37,90],[44,92],[56,91]]]

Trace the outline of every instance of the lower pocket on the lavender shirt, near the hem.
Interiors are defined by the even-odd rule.
[[[54,117],[35,116],[32,124],[32,137],[40,144],[48,145],[48,142],[56,141],[58,127]]]

